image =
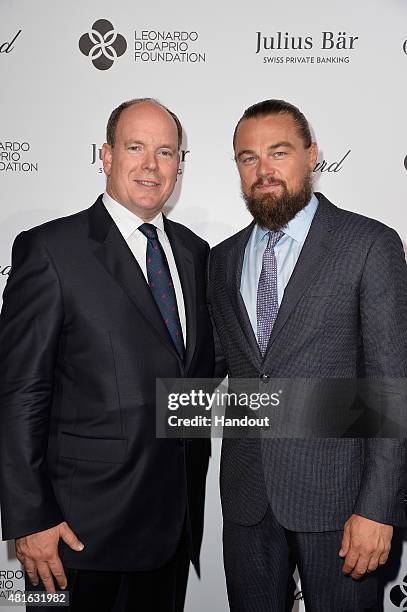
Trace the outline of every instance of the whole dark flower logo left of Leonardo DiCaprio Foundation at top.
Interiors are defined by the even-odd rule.
[[[108,70],[115,59],[126,51],[127,42],[124,36],[115,31],[110,21],[98,19],[92,29],[80,37],[79,49],[90,57],[95,68]]]

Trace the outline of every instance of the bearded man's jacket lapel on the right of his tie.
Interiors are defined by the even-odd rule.
[[[284,291],[277,319],[271,332],[265,359],[269,357],[273,344],[283,330],[298,301],[321,270],[326,255],[332,247],[330,232],[335,225],[335,207],[322,194],[316,194],[319,205],[311,223],[297,264]]]

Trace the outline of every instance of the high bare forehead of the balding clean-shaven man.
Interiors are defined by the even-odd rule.
[[[116,139],[144,138],[177,143],[177,126],[171,115],[157,104],[140,102],[122,111]]]

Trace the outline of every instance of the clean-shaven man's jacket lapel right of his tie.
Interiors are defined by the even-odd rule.
[[[191,251],[185,246],[182,239],[177,235],[176,225],[164,217],[165,233],[171,244],[179,278],[181,281],[182,295],[184,298],[185,315],[187,320],[187,338],[185,351],[185,370],[192,361],[196,346],[196,284],[195,265]]]

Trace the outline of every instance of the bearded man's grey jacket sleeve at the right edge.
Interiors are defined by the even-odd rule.
[[[407,375],[407,267],[397,233],[384,228],[369,250],[360,286],[362,376],[387,402],[404,406]],[[354,508],[372,520],[405,525],[407,441],[365,440],[365,466]]]

